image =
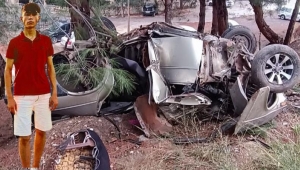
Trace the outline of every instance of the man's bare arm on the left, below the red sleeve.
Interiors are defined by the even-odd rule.
[[[5,81],[5,91],[6,91],[7,99],[13,98],[12,91],[11,91],[13,64],[14,64],[14,59],[6,58],[4,81]]]

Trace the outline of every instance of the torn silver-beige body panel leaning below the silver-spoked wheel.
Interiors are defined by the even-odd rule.
[[[270,87],[260,88],[253,94],[236,125],[234,134],[263,125],[275,118],[287,105],[283,93],[277,93],[273,104],[268,107]]]

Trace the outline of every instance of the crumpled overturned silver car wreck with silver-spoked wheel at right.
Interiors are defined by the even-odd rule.
[[[299,82],[297,53],[281,44],[257,51],[245,26],[219,37],[152,23],[121,37],[119,57],[135,63],[131,69],[147,84],[135,102],[147,136],[170,131],[169,122],[191,112],[202,120],[231,118],[235,134],[262,125],[287,106],[284,92]]]

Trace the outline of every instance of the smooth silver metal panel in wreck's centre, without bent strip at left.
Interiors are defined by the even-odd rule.
[[[170,84],[192,84],[197,78],[203,41],[191,37],[152,38],[163,77]],[[149,47],[150,48],[150,47]]]

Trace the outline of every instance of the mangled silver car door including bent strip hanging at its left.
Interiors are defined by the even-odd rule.
[[[190,85],[197,79],[203,42],[191,37],[163,37],[148,40],[152,95],[156,103],[172,94],[169,84]]]

